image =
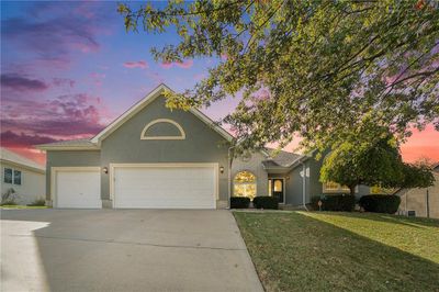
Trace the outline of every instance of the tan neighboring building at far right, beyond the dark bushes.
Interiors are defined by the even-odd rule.
[[[439,165],[434,168],[435,184],[429,188],[401,189],[398,213],[420,217],[439,218]]]

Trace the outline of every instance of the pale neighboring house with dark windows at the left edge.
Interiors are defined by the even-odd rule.
[[[0,148],[1,194],[13,189],[19,204],[46,194],[45,167],[5,148]]]

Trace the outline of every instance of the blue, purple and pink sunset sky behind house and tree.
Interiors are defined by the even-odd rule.
[[[127,34],[116,2],[2,1],[1,27],[1,146],[42,164],[32,145],[93,136],[160,82],[182,91],[221,61],[154,61],[149,49],[175,32]],[[218,120],[237,102],[204,112]],[[439,161],[439,132],[415,132],[402,153]]]

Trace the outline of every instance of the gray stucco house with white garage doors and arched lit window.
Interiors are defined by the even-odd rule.
[[[233,136],[196,109],[167,109],[165,90],[157,87],[91,139],[38,145],[47,151],[47,203],[215,209],[226,207],[230,195],[275,195],[303,205],[323,192],[349,192],[323,186],[312,156],[286,151],[235,158],[229,173]]]

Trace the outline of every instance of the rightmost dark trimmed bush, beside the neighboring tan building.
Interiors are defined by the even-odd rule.
[[[368,194],[360,198],[360,206],[367,212],[394,214],[399,204],[401,198],[393,194]]]

